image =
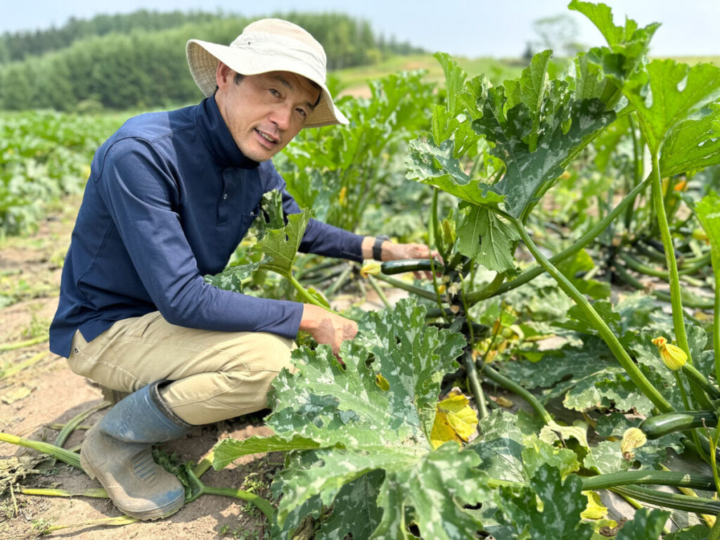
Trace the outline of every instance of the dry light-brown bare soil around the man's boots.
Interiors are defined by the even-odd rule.
[[[0,309],[0,346],[37,339],[47,331],[57,307],[62,257],[70,235],[79,199],[67,201],[40,224],[36,233],[0,243],[0,300],[8,303]],[[0,304],[1,305],[1,304]],[[35,360],[2,377],[4,372]],[[58,434],[53,424],[68,422],[78,413],[103,401],[96,384],[78,377],[68,369],[66,359],[50,354],[48,342],[32,346],[0,349],[0,431],[36,441],[52,443]],[[107,412],[94,413],[72,433],[64,447],[81,444],[84,429]],[[262,415],[237,418],[195,428],[178,441],[161,449],[176,454],[178,462],[199,462],[220,438],[246,438],[267,435]],[[81,525],[93,520],[121,516],[111,502],[102,498],[49,497],[24,495],[29,487],[58,487],[71,492],[101,487],[78,469],[62,462],[33,464],[39,474],[22,477],[12,467],[19,456],[40,456],[35,451],[0,443],[0,538],[32,539],[50,526],[73,526],[52,532],[55,538],[95,539],[263,539],[268,529],[264,516],[241,500],[219,495],[203,495],[185,505],[174,516],[160,521],[137,522],[124,526]],[[27,458],[25,458],[27,459]],[[269,485],[282,455],[248,456],[222,471],[210,469],[202,476],[206,485],[252,489],[269,498]],[[14,478],[14,476],[19,477]],[[11,480],[9,480],[11,479]],[[14,481],[12,481],[14,480]],[[12,489],[11,489],[12,488]]]

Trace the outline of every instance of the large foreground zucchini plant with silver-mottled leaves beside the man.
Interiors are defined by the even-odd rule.
[[[552,51],[544,51],[519,78],[495,86],[485,76],[468,80],[449,55],[436,55],[446,75],[446,101],[432,108],[428,135],[410,143],[408,179],[433,186],[429,242],[442,263],[383,264],[377,276],[402,287],[384,274],[430,270],[441,276],[432,289],[407,287],[419,293],[419,303],[402,300],[394,310],[364,315],[356,340],[343,344],[343,364],[325,346],[295,351],[297,372],[281,374],[271,395],[268,423],[275,435],[216,446],[216,468],[244,454],[287,451],[274,484],[282,495],[274,537],[292,538],[307,516],[316,520],[315,538],[352,534],[354,540],[474,539],[479,533],[590,539],[601,529],[618,539],[667,533],[663,510],[638,512],[622,528],[608,526],[598,517],[602,511],[593,513],[592,496],[584,495],[603,489],[711,515],[672,538],[720,535],[712,517],[720,510],[716,500],[642,487],[720,489],[719,377],[711,374],[718,323],[715,318],[706,346],[701,321],[683,309],[667,221],[675,202],[662,187],[664,177],[720,163],[720,69],[648,62],[657,24],[639,27],[626,19],[616,26],[603,4],[573,0],[570,9],[585,14],[608,44],[577,55],[567,73],[558,73]],[[618,204],[575,242],[546,253],[536,242],[540,203],[564,171],[600,152],[594,143],[619,124],[636,127],[636,156],[642,155],[639,145],[647,145],[650,174],[634,176]],[[708,237],[716,276],[718,202],[708,195],[690,207]],[[608,287],[585,276],[594,267],[585,248],[618,220],[632,225],[634,215],[656,220],[668,317],[658,313],[653,297],[611,302]],[[518,246],[534,265],[521,266]],[[521,316],[548,279],[565,295],[553,299],[567,316],[538,330]],[[532,345],[548,327],[565,341],[554,354]],[[682,366],[663,363],[652,342],[661,333],[675,336],[686,359]],[[513,340],[509,350],[516,359],[498,361],[500,348]],[[444,379],[459,369],[480,415],[472,441],[466,433],[474,420],[466,408],[438,402]],[[491,411],[482,379],[524,397],[536,415]],[[555,418],[546,409],[554,397],[582,416],[575,423]],[[647,436],[636,434],[638,426]],[[590,428],[602,438],[598,444],[589,443]],[[438,439],[438,433],[445,434]],[[711,474],[663,470],[667,449],[686,448],[706,460]]]

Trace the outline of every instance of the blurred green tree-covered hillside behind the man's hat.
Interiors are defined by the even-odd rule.
[[[408,43],[384,40],[369,22],[347,14],[274,14],[300,24],[325,47],[328,68],[375,63],[389,54],[416,53]],[[129,15],[71,19],[60,29],[0,39],[0,109],[60,111],[171,107],[202,97],[187,68],[191,38],[229,44],[256,18],[140,10]],[[68,28],[75,29],[71,35]],[[27,51],[30,51],[28,53]]]

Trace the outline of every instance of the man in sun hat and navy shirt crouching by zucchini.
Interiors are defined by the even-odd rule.
[[[130,392],[88,431],[81,463],[140,519],[184,502],[153,443],[264,408],[298,330],[336,354],[357,331],[320,307],[202,279],[228,263],[264,192],[281,190],[284,211],[300,212],[270,158],[303,127],[348,123],[325,86],[322,46],[264,19],[229,47],[190,40],[187,57],[207,99],[132,118],[96,152],[50,326],[50,349],[73,372]],[[429,254],[315,220],[300,249],[354,261]]]

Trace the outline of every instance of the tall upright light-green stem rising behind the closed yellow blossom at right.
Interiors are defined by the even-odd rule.
[[[652,153],[652,198],[655,202],[657,226],[660,228],[662,246],[665,248],[667,271],[670,273],[670,303],[672,304],[672,325],[675,329],[675,339],[678,340],[678,346],[688,355],[688,363],[693,364],[688,336],[685,334],[685,312],[683,311],[683,299],[680,297],[680,277],[678,276],[678,264],[675,261],[675,248],[672,246],[670,226],[667,224],[665,204],[662,199],[660,161],[657,150]]]

